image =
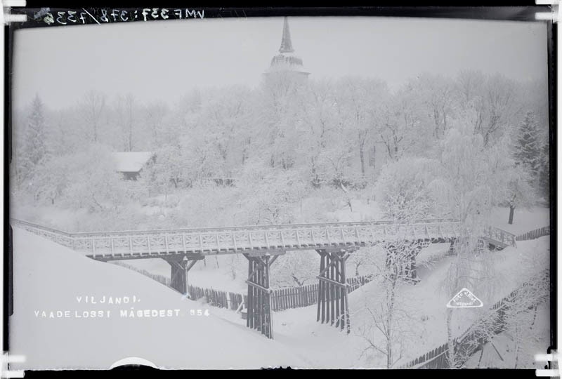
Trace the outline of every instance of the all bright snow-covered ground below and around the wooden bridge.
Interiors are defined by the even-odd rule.
[[[372,205],[373,211],[376,208]],[[507,224],[507,209],[497,208],[493,225],[514,233],[548,225],[547,208],[517,210],[514,225]],[[339,215],[344,218],[343,213]],[[351,213],[351,212],[350,212]],[[359,218],[365,218],[365,215]],[[345,219],[345,218],[344,218]],[[351,218],[355,219],[355,218]],[[504,220],[505,219],[505,220]],[[503,222],[503,223],[502,223]],[[419,284],[400,288],[410,317],[401,359],[403,364],[441,345],[446,340],[445,304],[450,300],[443,281],[452,257],[447,244],[431,245],[417,258]],[[490,253],[493,280],[469,288],[484,302],[484,309],[511,292],[523,281],[548,267],[549,237],[518,241],[517,248]],[[163,260],[132,260],[129,264],[155,274],[169,275]],[[242,277],[232,279],[228,267],[207,267],[198,262],[190,271],[190,284],[223,291],[245,292]],[[365,340],[357,328],[365,322],[365,305],[380,293],[377,282],[349,296],[352,333],[346,335],[316,322],[316,307],[304,307],[273,314],[275,340],[267,340],[245,327],[240,314],[207,307],[202,302],[183,300],[181,295],[125,267],[84,258],[62,246],[17,228],[14,230],[14,315],[10,320],[11,351],[25,354],[22,367],[107,368],[125,357],[142,357],[168,368],[259,368],[292,366],[301,368],[383,367],[381,354],[362,354]],[[84,304],[77,297],[135,295],[140,298],[123,305]],[[180,310],[179,317],[121,318],[119,310]],[[37,317],[35,311],[109,310],[112,317]],[[191,316],[190,311],[209,310],[210,315]],[[482,309],[455,310],[457,333],[462,333]],[[537,317],[535,328],[545,335],[535,345],[548,345],[548,314]],[[538,333],[538,332],[537,332]],[[498,336],[499,339],[502,336]],[[499,343],[498,343],[499,344]],[[504,344],[505,345],[505,344]],[[165,347],[165,348],[164,348]],[[218,347],[218,348],[217,348]],[[534,348],[534,347],[533,347]],[[509,347],[506,347],[509,349]],[[344,354],[342,354],[344,352]],[[485,353],[488,355],[488,353]],[[52,366],[52,362],[58,362]],[[83,362],[83,363],[81,363]],[[526,362],[526,363],[525,363]],[[490,363],[492,364],[492,363]],[[518,363],[528,367],[531,361]],[[481,361],[481,367],[485,366]]]

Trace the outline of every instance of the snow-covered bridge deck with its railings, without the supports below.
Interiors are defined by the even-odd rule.
[[[452,241],[460,232],[459,222],[453,220],[420,220],[412,224],[339,222],[95,233],[61,232],[14,219],[11,223],[99,260],[157,258],[186,253],[216,255],[356,248],[396,240],[438,243]],[[489,228],[485,234],[502,244],[515,246],[513,234],[496,228]]]

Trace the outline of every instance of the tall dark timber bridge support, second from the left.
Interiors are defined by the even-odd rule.
[[[261,334],[273,339],[269,269],[279,255],[274,255],[273,258],[270,258],[270,255],[244,254],[244,256],[248,260],[246,326],[261,331]]]

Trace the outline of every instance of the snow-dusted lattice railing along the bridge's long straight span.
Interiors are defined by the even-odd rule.
[[[247,250],[290,250],[329,246],[362,246],[389,239],[452,239],[459,235],[457,222],[424,224],[358,224],[306,227],[264,227],[262,230],[215,230],[185,232],[136,232],[105,235],[73,234],[75,249],[93,255],[152,255],[174,253],[221,253]]]

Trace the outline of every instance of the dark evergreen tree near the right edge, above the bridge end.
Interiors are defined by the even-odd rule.
[[[527,112],[523,124],[517,129],[513,156],[516,165],[521,164],[533,182],[539,174],[540,150],[540,132],[535,121],[535,115],[532,112]]]

